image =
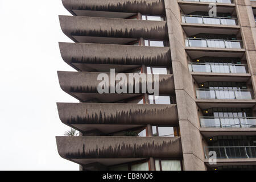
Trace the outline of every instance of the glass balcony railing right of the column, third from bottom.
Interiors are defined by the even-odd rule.
[[[253,100],[253,90],[240,89],[196,89],[197,99],[205,100]]]

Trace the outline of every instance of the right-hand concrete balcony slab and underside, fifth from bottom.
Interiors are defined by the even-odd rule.
[[[191,59],[199,57],[240,57],[245,59],[245,49],[229,49],[229,48],[205,48],[205,47],[185,47]]]

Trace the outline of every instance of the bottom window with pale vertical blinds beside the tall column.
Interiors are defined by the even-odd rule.
[[[156,171],[181,171],[180,160],[155,160]]]

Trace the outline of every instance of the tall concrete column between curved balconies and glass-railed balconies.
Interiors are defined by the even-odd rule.
[[[164,2],[174,71],[184,170],[205,170],[199,115],[197,114],[193,79],[189,73],[187,53],[185,52],[180,7],[177,1],[166,0]]]

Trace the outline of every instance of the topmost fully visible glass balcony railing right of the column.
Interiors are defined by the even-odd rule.
[[[181,18],[183,23],[238,25],[237,18],[229,18],[229,17],[181,15]]]

